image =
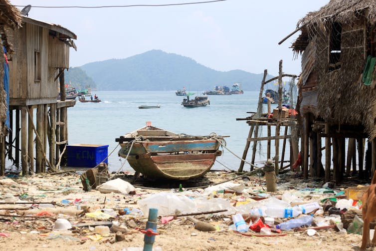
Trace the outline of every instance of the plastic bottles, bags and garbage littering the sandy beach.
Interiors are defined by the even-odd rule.
[[[151,208],[158,209],[160,234],[179,222],[197,231],[243,236],[277,237],[291,231],[314,236],[328,229],[361,235],[359,196],[365,188],[354,189],[354,197],[343,188],[285,182],[276,193],[267,193],[255,180],[240,180],[166,192],[135,188],[116,179],[84,192],[78,175],[3,177],[0,220],[7,223],[0,225],[0,236],[17,231],[80,243],[131,241],[145,229]]]

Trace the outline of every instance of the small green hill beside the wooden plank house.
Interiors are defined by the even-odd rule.
[[[70,83],[70,85],[78,89],[96,88],[93,79],[79,67],[69,68],[69,70],[65,71],[64,80],[65,83]]]

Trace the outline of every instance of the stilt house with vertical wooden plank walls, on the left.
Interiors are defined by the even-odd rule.
[[[13,47],[7,53],[10,128],[0,148],[2,172],[4,152],[16,166],[21,156],[23,175],[45,172],[46,165],[55,170],[68,140],[67,107],[75,105],[75,100],[65,100],[64,69],[69,68],[69,48],[75,48],[72,39],[77,37],[60,25],[28,16],[22,16],[21,28],[4,33]]]

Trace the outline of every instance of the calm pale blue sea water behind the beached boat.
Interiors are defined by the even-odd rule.
[[[225,138],[227,148],[241,157],[250,126],[245,120],[237,121],[236,118],[245,118],[251,116],[247,112],[257,111],[259,91],[245,91],[244,94],[233,95],[209,95],[210,105],[196,108],[183,107],[181,103],[185,97],[177,96],[175,91],[94,91],[92,94],[93,96],[97,94],[102,102],[81,103],[77,99],[76,105],[68,108],[68,144],[70,145],[109,145],[108,153],[110,154],[118,145],[115,138],[144,127],[146,121],[151,121],[153,126],[175,133],[200,136],[216,133],[230,136]],[[197,92],[195,94],[197,95]],[[198,94],[202,96],[201,92]],[[158,104],[161,108],[138,108],[140,105]],[[272,104],[272,109],[274,107],[276,105]],[[263,105],[263,109],[264,112],[267,111],[266,104]],[[283,133],[282,130],[281,133]],[[265,137],[266,134],[266,127],[264,130],[259,129],[259,137]],[[252,157],[252,145],[251,142],[247,161],[250,161]],[[118,156],[119,149],[120,146],[108,158],[110,171],[118,170],[124,162],[124,159]],[[222,155],[216,158],[217,161],[211,169],[237,170],[240,160],[226,149],[220,147],[219,150],[223,151]],[[271,147],[271,156],[274,156],[274,147]],[[289,147],[286,147],[285,160],[289,160],[289,156]],[[257,145],[256,162],[265,160],[266,141],[263,141],[261,147]],[[263,163],[255,164],[263,165]],[[7,166],[9,166],[8,161]],[[248,164],[244,165],[244,171],[249,168]],[[133,172],[128,163],[125,163],[123,170]]]

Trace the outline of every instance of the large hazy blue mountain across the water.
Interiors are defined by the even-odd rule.
[[[263,74],[242,70],[217,71],[193,59],[151,50],[125,59],[109,59],[80,66],[99,90],[211,90],[215,85],[259,90]]]

